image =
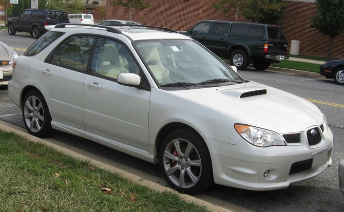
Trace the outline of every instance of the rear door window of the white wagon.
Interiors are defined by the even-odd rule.
[[[94,36],[71,36],[58,46],[51,62],[65,68],[86,71],[94,41]]]

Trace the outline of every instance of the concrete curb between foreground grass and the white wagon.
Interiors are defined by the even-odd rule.
[[[19,128],[19,129],[16,129],[16,128]],[[61,151],[61,152],[65,153],[66,155],[69,155],[69,156],[71,156],[73,158],[76,158],[78,160],[90,161],[91,164],[93,164],[95,166],[98,166],[100,168],[104,168],[106,170],[109,170],[109,171],[111,171],[113,173],[120,174],[122,177],[130,179],[133,183],[137,183],[137,184],[140,184],[140,185],[143,185],[143,186],[147,186],[147,187],[149,187],[151,189],[154,189],[154,190],[157,190],[157,191],[160,191],[160,192],[162,192],[162,191],[173,192],[174,194],[176,194],[180,198],[182,198],[184,201],[190,202],[190,203],[195,203],[195,204],[202,205],[202,206],[206,206],[208,210],[211,210],[211,211],[214,211],[214,212],[234,212],[233,210],[225,209],[223,207],[211,204],[211,203],[206,202],[204,200],[200,200],[198,198],[195,198],[195,197],[192,197],[192,196],[189,196],[189,195],[186,195],[186,194],[180,194],[179,192],[177,192],[177,191],[175,191],[175,190],[173,190],[171,188],[168,188],[168,187],[159,185],[157,183],[148,181],[146,179],[143,179],[142,177],[139,177],[137,175],[131,174],[130,172],[127,172],[127,171],[124,171],[124,170],[119,169],[117,167],[108,165],[108,164],[103,163],[101,161],[94,160],[92,158],[89,158],[89,157],[84,156],[84,155],[82,155],[80,153],[74,152],[74,151],[72,151],[70,149],[67,149],[65,147],[56,145],[56,144],[54,144],[52,142],[49,142],[47,140],[34,137],[31,134],[25,132],[26,129],[23,129],[23,131],[22,131],[22,130],[20,130],[21,129],[20,127],[14,126],[14,125],[12,125],[10,123],[7,123],[7,122],[1,121],[1,120],[0,120],[0,129],[3,130],[3,131],[14,132],[16,134],[19,134],[20,136],[22,136],[22,137],[24,137],[24,138],[26,138],[26,139],[28,139],[28,140],[30,140],[32,142],[45,144],[45,145],[47,145],[49,147],[52,147],[52,148],[54,148],[54,149],[56,149],[58,151]],[[236,211],[249,211],[249,210],[248,209],[247,210],[245,210],[245,209],[238,209]]]

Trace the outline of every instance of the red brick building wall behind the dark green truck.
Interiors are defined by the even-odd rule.
[[[129,20],[129,9],[114,7],[113,0],[106,2],[105,19]],[[145,25],[187,30],[201,20],[235,21],[235,12],[224,14],[212,7],[217,0],[146,0],[155,6],[145,10],[133,10],[132,21]],[[280,26],[289,41],[300,41],[299,54],[328,56],[330,37],[310,27],[311,17],[316,14],[314,0],[284,0],[288,8]],[[247,22],[239,16],[239,22]],[[333,44],[333,57],[344,58],[344,34],[337,36]]]

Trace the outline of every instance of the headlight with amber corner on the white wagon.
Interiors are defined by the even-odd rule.
[[[245,124],[235,124],[234,127],[245,141],[255,146],[285,146],[283,138],[276,132]]]

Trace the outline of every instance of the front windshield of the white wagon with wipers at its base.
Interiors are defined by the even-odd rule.
[[[160,87],[191,89],[245,82],[226,63],[195,41],[140,41],[134,45]]]

